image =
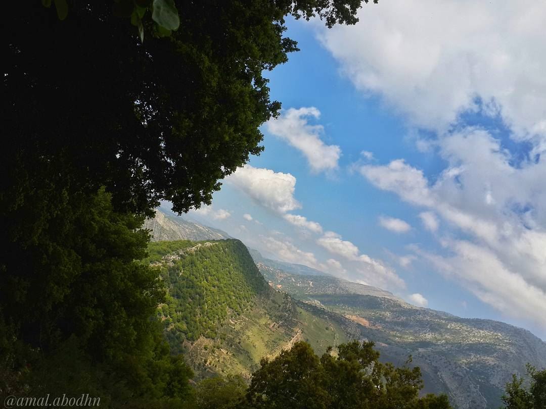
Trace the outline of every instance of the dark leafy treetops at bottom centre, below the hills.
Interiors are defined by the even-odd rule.
[[[296,342],[275,359],[263,359],[252,374],[250,407],[348,409],[448,409],[446,395],[426,395],[418,367],[379,362],[373,342],[352,341],[318,358],[306,342]]]

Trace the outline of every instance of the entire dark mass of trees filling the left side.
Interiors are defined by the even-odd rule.
[[[286,15],[330,27],[357,21],[360,4],[5,5],[0,393],[64,384],[113,407],[191,400],[191,370],[157,322],[159,272],[138,262],[144,216],[159,200],[210,203],[262,151],[259,126],[281,106],[264,73],[297,50]]]

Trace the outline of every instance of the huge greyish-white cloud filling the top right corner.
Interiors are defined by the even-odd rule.
[[[480,97],[520,137],[546,133],[543,3],[391,0],[359,18],[317,25],[319,38],[355,87],[413,124],[446,130]]]

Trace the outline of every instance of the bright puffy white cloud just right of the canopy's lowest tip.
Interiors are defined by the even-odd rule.
[[[276,213],[301,208],[301,204],[294,198],[296,178],[290,173],[245,165],[225,178],[225,182],[246,193],[260,206]]]

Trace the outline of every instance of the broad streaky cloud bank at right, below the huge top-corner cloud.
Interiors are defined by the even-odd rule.
[[[402,160],[360,172],[425,208],[419,215],[429,230],[437,230],[437,215],[446,222],[449,236],[438,237],[444,254],[427,258],[438,270],[496,309],[546,328],[546,311],[537,308],[546,305],[546,162],[515,165],[500,141],[473,128],[440,136],[438,153],[448,166],[434,183]],[[449,238],[458,233],[466,239]]]

